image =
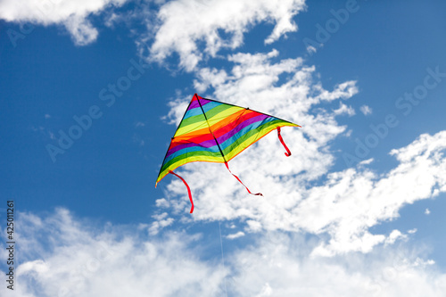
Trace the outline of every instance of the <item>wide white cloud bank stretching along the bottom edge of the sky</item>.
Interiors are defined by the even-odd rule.
[[[215,251],[218,236],[215,243],[183,232],[147,237],[144,228],[97,227],[63,209],[17,218],[21,264],[13,293],[19,297],[441,297],[446,290],[446,275],[434,267],[434,260],[408,246],[326,259],[310,257],[317,237],[268,232],[225,252],[223,265],[220,250]],[[4,243],[0,247],[4,258]],[[207,260],[203,254],[209,255]],[[9,293],[0,286],[2,296]]]

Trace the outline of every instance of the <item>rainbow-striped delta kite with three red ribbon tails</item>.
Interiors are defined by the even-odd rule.
[[[227,170],[244,186],[240,178],[231,172],[227,162],[275,129],[280,143],[285,147],[285,155],[289,157],[291,152],[280,135],[280,128],[285,126],[301,127],[249,108],[195,94],[171,139],[155,187],[169,173],[181,179],[187,188],[192,213],[194,202],[191,190],[186,180],[173,172],[174,169],[194,161],[225,163]],[[247,186],[244,187],[249,194],[253,194]]]

